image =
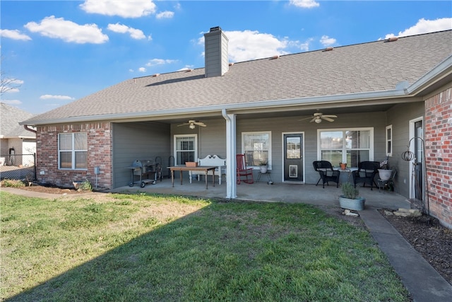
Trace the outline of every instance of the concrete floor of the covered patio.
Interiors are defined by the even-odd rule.
[[[398,209],[410,208],[410,202],[398,194],[397,192],[388,192],[375,188],[359,186],[359,195],[366,199],[366,209]],[[124,186],[117,187],[112,192],[145,192],[155,194],[176,194],[182,196],[195,196],[213,199],[224,199],[226,197],[226,183],[222,182],[218,185],[218,179],[215,181],[215,187],[209,178],[208,189],[206,183],[194,180],[189,182],[188,178],[184,178],[183,185],[180,179],[174,180],[172,187],[171,179],[164,178],[161,182],[157,180],[155,185],[146,185],[141,188],[138,185],[133,187]],[[313,204],[319,206],[339,207],[340,187],[335,184],[325,185],[325,189],[321,185],[307,184],[291,184],[278,183],[268,185],[266,181],[261,179],[260,182],[254,184],[242,183],[237,185],[237,200],[256,201],[256,202],[301,202],[305,204]]]

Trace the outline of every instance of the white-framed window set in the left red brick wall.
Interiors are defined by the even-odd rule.
[[[85,132],[62,133],[58,136],[59,169],[88,168],[88,135]]]

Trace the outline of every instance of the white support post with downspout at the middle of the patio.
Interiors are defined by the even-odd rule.
[[[221,110],[226,120],[226,198],[237,198],[237,175],[235,173],[235,115],[228,115],[226,109]]]

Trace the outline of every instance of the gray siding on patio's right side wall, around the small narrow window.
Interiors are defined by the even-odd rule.
[[[408,150],[410,140],[410,120],[424,117],[424,102],[395,105],[388,110],[388,125],[393,125],[393,156],[389,162],[397,169],[396,192],[410,197],[410,163],[402,160],[402,153]],[[413,144],[413,143],[412,143]]]

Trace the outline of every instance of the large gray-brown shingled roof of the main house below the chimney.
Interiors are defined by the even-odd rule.
[[[235,63],[224,76],[206,78],[204,68],[144,76],[123,81],[22,124],[265,108],[302,104],[307,100],[315,103],[355,97],[404,97],[410,93],[407,87],[441,62],[446,60],[447,68],[452,66],[451,41],[452,30],[446,30],[400,37],[394,42],[379,40],[335,47],[331,51]]]

